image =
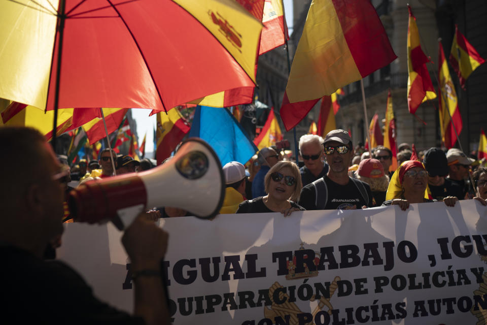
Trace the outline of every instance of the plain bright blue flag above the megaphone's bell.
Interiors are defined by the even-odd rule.
[[[259,150],[226,108],[197,106],[189,136],[210,144],[222,166],[230,161],[245,164]]]

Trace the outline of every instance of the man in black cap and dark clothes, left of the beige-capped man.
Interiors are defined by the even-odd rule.
[[[463,188],[446,178],[448,160],[443,150],[439,148],[426,150],[423,164],[428,172],[428,187],[433,199],[443,201],[448,196],[463,199]]]

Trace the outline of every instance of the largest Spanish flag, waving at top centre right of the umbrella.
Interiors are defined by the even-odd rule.
[[[293,128],[324,95],[396,59],[368,0],[312,0],[284,94],[281,118]]]

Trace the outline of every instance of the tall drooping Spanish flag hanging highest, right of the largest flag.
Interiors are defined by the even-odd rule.
[[[421,103],[436,98],[435,88],[431,83],[426,63],[430,60],[421,49],[420,34],[416,17],[409,10],[409,23],[407,27],[407,107],[409,113],[415,114]]]

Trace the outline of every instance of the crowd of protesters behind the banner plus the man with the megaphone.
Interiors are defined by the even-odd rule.
[[[2,187],[0,195],[3,214],[8,216],[2,218],[0,227],[4,258],[0,275],[8,279],[4,292],[12,302],[7,302],[7,314],[18,317],[21,307],[27,305],[32,317],[49,315],[54,322],[169,323],[160,277],[168,235],[151,221],[190,212],[155,207],[140,214],[125,230],[122,243],[135,283],[133,315],[98,301],[73,269],[46,259],[49,250],[60,244],[60,216],[69,219],[64,198],[73,184],[72,174],[78,175],[78,186],[82,186],[115,173],[150,169],[152,162],[143,164],[105,149],[98,161],[80,160],[70,171],[66,158],[55,156],[44,137],[32,128],[2,127],[0,141],[5,144],[0,164],[10,171],[4,175],[9,186]],[[407,144],[398,149],[399,167],[391,170],[394,159],[390,149],[378,146],[367,156],[360,146],[354,148],[350,135],[341,129],[325,138],[302,136],[301,168],[284,159],[280,150],[263,148],[248,161],[247,168],[237,161],[223,167],[226,189],[220,213],[280,212],[288,216],[294,211],[388,205],[407,210],[414,203],[443,201],[454,206],[468,199],[487,205],[487,168],[474,158],[456,148],[446,152],[430,148],[419,155]],[[11,156],[18,158],[18,163],[11,164]]]

